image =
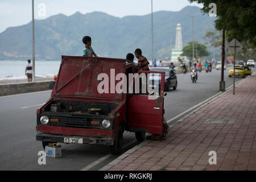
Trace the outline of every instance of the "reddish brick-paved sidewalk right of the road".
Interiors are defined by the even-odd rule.
[[[213,123],[207,119],[221,119]],[[256,76],[202,107],[169,131],[146,141],[109,170],[256,170]],[[209,164],[216,151],[217,164]]]

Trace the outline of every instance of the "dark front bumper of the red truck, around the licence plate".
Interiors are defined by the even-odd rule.
[[[46,134],[46,133],[37,133],[36,140],[44,142],[59,142],[64,143],[64,137],[71,138],[82,138],[82,143],[84,144],[103,144],[108,146],[114,145],[114,137],[105,138],[105,137],[84,137],[84,136],[69,136],[69,135],[58,135],[58,134]]]

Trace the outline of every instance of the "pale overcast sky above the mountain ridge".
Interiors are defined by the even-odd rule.
[[[36,19],[44,19],[59,13],[72,15],[76,11],[82,14],[102,11],[120,18],[151,13],[151,0],[34,0],[34,3]],[[39,7],[42,3],[46,6],[45,14],[43,6]],[[153,0],[153,11],[180,11],[188,5],[203,7],[197,3],[189,3],[187,0]],[[1,0],[0,32],[5,31],[7,27],[30,22],[31,11],[32,0]]]

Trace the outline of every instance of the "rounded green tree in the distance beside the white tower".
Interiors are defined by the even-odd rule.
[[[193,56],[193,42],[189,42],[188,46],[183,47],[182,51],[183,53],[181,56],[188,56],[190,59],[192,59]],[[207,47],[204,46],[204,44],[200,44],[198,42],[194,42],[195,47],[197,47],[197,56],[203,57],[203,56],[209,56],[210,53],[206,50]]]

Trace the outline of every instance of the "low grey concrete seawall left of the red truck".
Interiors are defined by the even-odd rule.
[[[17,84],[1,84],[0,96],[49,90],[49,81],[38,81]]]

